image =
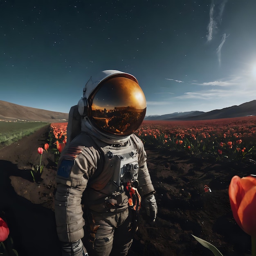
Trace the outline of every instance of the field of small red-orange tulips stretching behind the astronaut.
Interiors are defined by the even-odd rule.
[[[229,161],[256,160],[256,117],[200,121],[143,121],[135,134],[145,146],[184,150],[191,155]],[[50,145],[61,150],[67,123],[53,123]],[[56,145],[56,146],[55,146]],[[59,146],[61,145],[61,146]]]

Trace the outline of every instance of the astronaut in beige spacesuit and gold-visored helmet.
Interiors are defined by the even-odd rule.
[[[142,141],[146,114],[137,79],[118,70],[91,77],[70,109],[56,175],[55,217],[62,256],[127,255],[145,207],[155,221],[155,189]]]

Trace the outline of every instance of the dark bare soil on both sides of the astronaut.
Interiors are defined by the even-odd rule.
[[[0,217],[7,220],[19,256],[61,256],[54,217],[54,154],[43,153],[40,183],[30,174],[30,163],[39,164],[37,148],[47,142],[48,132],[48,127],[41,128],[0,150]],[[150,223],[141,208],[129,256],[213,255],[192,234],[225,256],[249,254],[250,237],[234,221],[228,186],[234,175],[256,174],[255,165],[145,149],[158,215]],[[204,192],[205,184],[212,192]]]

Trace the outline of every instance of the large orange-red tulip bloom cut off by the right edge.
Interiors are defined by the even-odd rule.
[[[256,237],[256,177],[234,176],[229,185],[229,200],[237,224]]]

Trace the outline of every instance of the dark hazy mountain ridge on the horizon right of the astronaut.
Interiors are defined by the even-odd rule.
[[[231,117],[246,117],[256,115],[256,100],[243,103],[239,106],[211,110],[209,112],[191,111],[175,112],[167,115],[146,116],[144,120],[209,120]]]

